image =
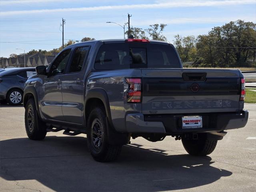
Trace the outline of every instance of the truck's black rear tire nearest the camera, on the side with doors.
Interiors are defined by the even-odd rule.
[[[95,134],[95,128],[100,130],[97,134]],[[90,154],[94,160],[98,162],[110,162],[116,160],[122,149],[122,145],[109,144],[107,133],[106,112],[104,108],[93,108],[87,122],[87,145]],[[95,139],[96,136],[98,136],[99,139],[102,139],[98,148],[95,146],[96,144],[94,144],[94,141],[97,139]]]

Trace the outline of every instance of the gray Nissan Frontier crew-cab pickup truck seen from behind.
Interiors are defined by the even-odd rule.
[[[93,158],[112,161],[122,145],[143,137],[182,140],[191,155],[208,155],[224,130],[248,120],[240,70],[183,69],[172,44],[126,39],[67,46],[36,68],[24,90],[26,133],[87,134]]]

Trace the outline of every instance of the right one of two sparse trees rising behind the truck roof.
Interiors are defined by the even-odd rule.
[[[167,38],[162,34],[166,26],[167,24],[153,24],[146,31],[152,40],[166,41]]]

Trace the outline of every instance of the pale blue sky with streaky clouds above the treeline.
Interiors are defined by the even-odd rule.
[[[52,50],[83,37],[121,39],[113,23],[148,28],[167,24],[164,36],[207,34],[214,26],[238,19],[256,23],[256,0],[0,0],[0,56],[32,49]],[[126,30],[128,26],[126,25]]]

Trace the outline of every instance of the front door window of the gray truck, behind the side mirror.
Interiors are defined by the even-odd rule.
[[[52,75],[60,74],[64,72],[64,69],[66,67],[66,64],[68,62],[68,58],[70,56],[71,49],[65,50],[54,60],[50,73]]]

